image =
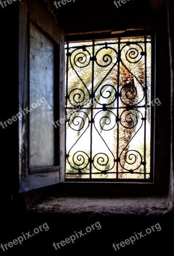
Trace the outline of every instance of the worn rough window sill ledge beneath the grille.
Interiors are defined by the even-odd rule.
[[[168,197],[89,198],[47,197],[29,212],[85,215],[164,215],[172,209]]]

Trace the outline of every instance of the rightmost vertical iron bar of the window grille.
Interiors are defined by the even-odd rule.
[[[147,46],[146,46],[146,36],[144,37],[145,41],[145,105],[147,104]],[[145,111],[145,120],[144,120],[144,178],[146,179],[146,118],[147,111]]]

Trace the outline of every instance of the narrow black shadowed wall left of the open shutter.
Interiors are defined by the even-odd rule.
[[[18,113],[18,3],[0,6],[0,121],[11,119]],[[0,126],[1,174],[0,195],[4,205],[11,203],[18,190],[18,123],[3,129]]]

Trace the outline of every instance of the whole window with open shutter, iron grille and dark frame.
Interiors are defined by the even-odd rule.
[[[151,21],[149,29],[136,21],[124,30],[115,23],[108,30],[109,21],[102,30],[96,23],[93,32],[90,24],[68,29],[60,17],[64,40],[56,14],[41,4],[23,0],[19,7],[19,112],[30,111],[19,121],[19,191],[57,184],[66,195],[166,195],[167,35],[161,38]],[[52,121],[66,114],[66,124],[55,127]]]

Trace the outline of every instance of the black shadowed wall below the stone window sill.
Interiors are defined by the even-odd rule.
[[[47,254],[48,255],[134,255],[134,256],[147,256],[147,255],[171,255],[173,253],[173,236],[174,224],[172,222],[172,215],[153,216],[153,217],[138,217],[138,216],[108,216],[102,218],[100,215],[61,215],[57,214],[36,214],[36,215],[22,215],[11,214],[4,218],[1,224],[2,238],[0,242],[3,244],[17,239],[22,233],[32,234],[32,230],[38,226],[47,223],[49,230],[43,231],[30,237],[23,243],[17,244],[8,251],[3,253],[13,255],[28,255],[31,254]],[[66,244],[64,247],[55,250],[53,242],[58,243],[65,240],[74,234],[74,231],[84,233],[86,227],[91,226],[99,221],[101,225],[100,230],[91,231],[86,236],[82,236],[74,241],[74,244]],[[112,244],[125,241],[134,233],[145,233],[147,228],[159,223],[161,231],[155,230],[153,233],[142,237],[134,242],[134,244],[126,245],[120,250],[115,251]],[[78,234],[78,233],[77,233]]]

